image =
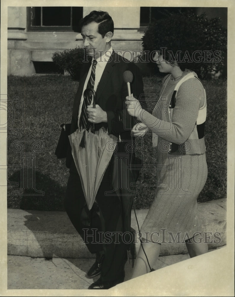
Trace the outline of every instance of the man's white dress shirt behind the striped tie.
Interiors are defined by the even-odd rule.
[[[94,91],[96,91],[97,89],[97,86],[100,82],[100,79],[101,79],[101,76],[104,72],[104,69],[105,69],[105,66],[111,56],[113,52],[113,49],[112,47],[107,50],[105,53],[103,53],[102,56],[100,56],[96,61],[97,61],[97,64],[96,64],[96,67],[95,67],[95,84],[94,84]],[[93,62],[94,58],[92,59],[92,62]],[[90,75],[91,75],[91,70],[92,70],[92,64],[91,64],[91,67],[88,71],[88,74],[87,74],[87,78],[85,80],[85,83],[84,83],[84,88],[83,88],[83,91],[82,91],[82,96],[81,96],[81,102],[80,102],[80,105],[79,105],[79,112],[78,112],[78,127],[79,127],[79,120],[80,120],[80,116],[81,116],[81,107],[82,107],[82,104],[83,104],[83,100],[84,100],[84,97],[83,97],[83,94],[84,94],[84,91],[85,89],[87,88],[87,83],[88,83],[88,80],[90,78]],[[93,99],[92,99],[92,102],[91,104],[93,103]]]

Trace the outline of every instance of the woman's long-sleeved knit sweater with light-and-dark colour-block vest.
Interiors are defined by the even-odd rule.
[[[183,81],[189,73],[191,77]],[[169,144],[170,154],[204,154],[207,103],[202,83],[195,72],[188,70],[176,80],[170,78],[171,75],[167,75],[163,79],[153,113],[142,110],[139,119],[153,132],[154,146],[160,137]]]

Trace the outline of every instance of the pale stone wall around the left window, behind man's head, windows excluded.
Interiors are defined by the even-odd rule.
[[[140,7],[84,7],[83,16],[92,10],[107,11],[114,21],[112,47],[131,58],[130,52],[141,51],[143,31]],[[81,34],[73,31],[28,31],[27,7],[8,7],[8,75],[32,75],[34,61],[50,62],[58,50],[82,47]]]

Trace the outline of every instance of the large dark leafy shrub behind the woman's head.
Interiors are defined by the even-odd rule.
[[[172,13],[164,19],[154,20],[142,40],[150,61],[154,51],[159,50],[160,54],[165,51],[166,58],[175,56],[174,60],[182,70],[184,67],[192,69],[202,79],[212,71],[223,71],[223,76],[227,75],[227,30],[220,18],[208,19],[204,14],[198,16],[194,12]]]

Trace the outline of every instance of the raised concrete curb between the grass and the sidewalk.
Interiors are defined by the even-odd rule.
[[[226,202],[226,199],[218,199],[198,203],[202,231],[207,232],[209,249],[226,245]],[[148,209],[136,210],[140,227],[147,213]],[[134,210],[131,227],[138,232]],[[138,251],[139,246],[139,240],[135,240],[135,251]],[[182,243],[162,244],[160,255],[187,252],[186,245]],[[95,258],[95,254],[88,251],[66,212],[11,208],[7,209],[7,254],[45,258]]]

